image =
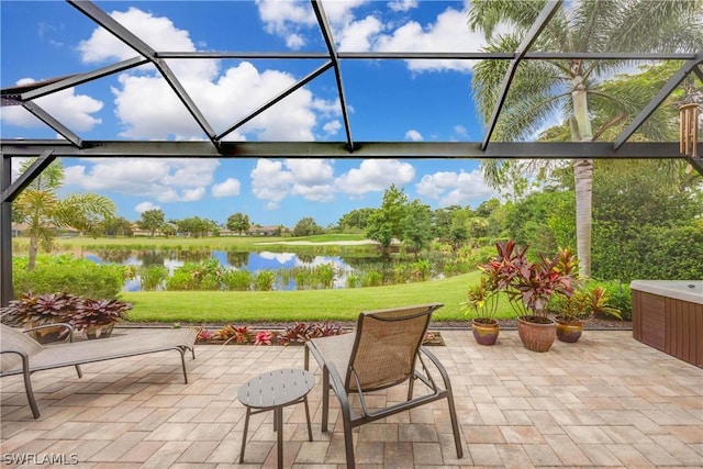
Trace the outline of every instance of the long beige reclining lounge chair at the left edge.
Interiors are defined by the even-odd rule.
[[[40,417],[40,410],[30,379],[30,376],[35,371],[76,367],[78,378],[81,378],[82,372],[79,365],[82,364],[178,350],[183,368],[183,379],[188,383],[185,355],[186,350],[190,350],[193,359],[196,358],[193,345],[197,332],[193,330],[140,331],[116,337],[72,342],[72,327],[68,324],[52,324],[52,326],[56,325],[69,328],[68,342],[44,346],[29,337],[23,331],[0,324],[0,377],[12,375],[24,377],[24,390],[34,418]],[[29,331],[31,330],[24,332]]]

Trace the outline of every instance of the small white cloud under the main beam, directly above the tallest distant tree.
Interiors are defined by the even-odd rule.
[[[365,159],[359,168],[335,179],[335,188],[353,196],[380,192],[392,183],[405,186],[415,177],[415,168],[397,159]]]

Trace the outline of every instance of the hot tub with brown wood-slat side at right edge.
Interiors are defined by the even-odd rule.
[[[633,280],[633,337],[703,367],[703,280]]]

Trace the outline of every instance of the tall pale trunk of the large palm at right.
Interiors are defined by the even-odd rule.
[[[573,71],[581,68],[580,63],[574,63]],[[583,86],[583,77],[576,74],[572,79],[573,91],[573,118],[576,120],[574,139],[577,142],[591,142],[593,131],[589,116],[589,103]],[[573,124],[573,120],[571,121]],[[576,248],[579,257],[579,276],[583,279],[591,278],[591,226],[592,226],[592,199],[593,199],[593,160],[577,159],[573,161],[573,182],[576,187]]]

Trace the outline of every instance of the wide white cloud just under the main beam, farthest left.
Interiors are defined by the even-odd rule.
[[[89,192],[138,193],[160,202],[200,200],[220,166],[216,159],[82,158],[79,161],[65,167],[66,185]]]

